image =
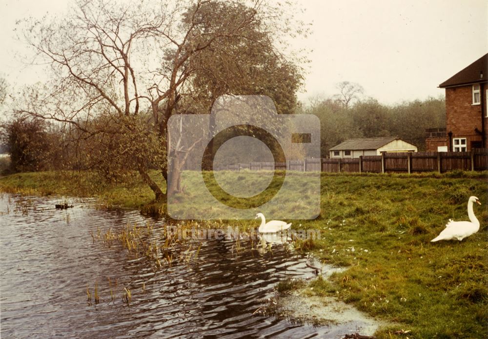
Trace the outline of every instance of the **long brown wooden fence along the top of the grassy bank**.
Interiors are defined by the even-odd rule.
[[[217,171],[244,169],[272,171],[275,169],[275,163],[251,162],[215,168]],[[476,148],[471,152],[383,153],[381,156],[361,156],[359,158],[289,160],[277,162],[276,169],[300,172],[371,173],[483,171],[488,170],[488,149]]]

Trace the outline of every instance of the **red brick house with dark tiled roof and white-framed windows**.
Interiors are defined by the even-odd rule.
[[[439,87],[446,89],[446,129],[426,131],[427,151],[488,148],[488,54]]]

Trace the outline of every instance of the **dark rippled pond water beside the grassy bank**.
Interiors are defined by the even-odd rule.
[[[97,210],[89,200],[56,210],[60,201],[0,197],[2,338],[337,338],[357,330],[256,312],[280,280],[314,275],[283,245],[237,253],[231,239],[190,240],[201,245],[198,259],[175,256],[154,271],[122,246],[93,241],[90,231],[148,221],[157,230],[164,220]],[[96,283],[100,303],[89,303],[87,288],[93,298]]]

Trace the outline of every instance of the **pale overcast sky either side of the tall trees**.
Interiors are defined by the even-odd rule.
[[[16,20],[66,10],[69,0],[0,0],[0,75],[10,84],[42,79],[19,61]],[[488,52],[487,0],[302,0],[313,34],[296,42],[311,50],[299,98],[336,93],[335,84],[361,84],[380,102],[444,95],[437,88]]]

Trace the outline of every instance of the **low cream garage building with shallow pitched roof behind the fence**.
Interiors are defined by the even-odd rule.
[[[330,158],[379,156],[387,152],[417,152],[417,146],[397,137],[348,139],[329,149]]]

